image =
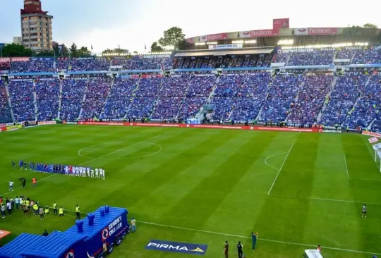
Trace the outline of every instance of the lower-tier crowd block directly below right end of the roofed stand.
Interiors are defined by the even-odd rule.
[[[238,87],[234,97],[234,109],[231,120],[253,121],[265,101],[271,73],[249,73],[245,75],[243,85]]]

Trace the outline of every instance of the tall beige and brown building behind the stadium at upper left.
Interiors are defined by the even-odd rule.
[[[21,9],[23,46],[36,52],[52,51],[52,20],[53,16],[42,11],[40,0],[24,0]]]

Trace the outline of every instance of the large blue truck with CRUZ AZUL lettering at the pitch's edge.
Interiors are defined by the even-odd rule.
[[[65,232],[23,233],[0,248],[0,258],[103,258],[129,233],[127,209],[100,207]]]

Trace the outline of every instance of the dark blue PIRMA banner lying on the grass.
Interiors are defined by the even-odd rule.
[[[163,252],[180,252],[182,254],[205,255],[207,245],[191,244],[187,242],[150,240],[150,242],[145,245],[145,249]]]

